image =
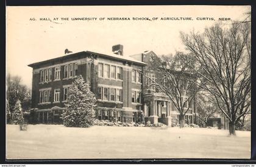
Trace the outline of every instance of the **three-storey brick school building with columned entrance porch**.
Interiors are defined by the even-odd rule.
[[[156,79],[147,67],[149,56],[141,54],[124,56],[123,46],[112,47],[112,54],[82,51],[62,57],[32,63],[32,110],[34,123],[61,123],[60,115],[68,101],[68,87],[78,75],[90,82],[97,98],[98,119],[111,119],[113,108],[118,120],[126,123],[140,122],[143,114],[151,123],[179,120],[179,113],[172,102],[154,87],[142,74]],[[194,104],[185,116],[186,123],[194,123]]]

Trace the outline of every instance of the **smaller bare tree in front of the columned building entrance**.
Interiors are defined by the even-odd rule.
[[[157,79],[151,81],[149,87],[166,94],[180,113],[180,127],[185,126],[185,114],[190,110],[193,99],[200,87],[197,87],[198,75],[185,64],[193,66],[193,57],[177,52],[176,55],[151,56],[150,69]],[[146,74],[144,76],[147,77]]]

